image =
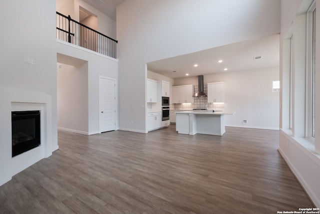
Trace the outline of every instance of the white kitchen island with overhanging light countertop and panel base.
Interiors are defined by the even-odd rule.
[[[175,130],[179,134],[211,134],[222,136],[225,132],[224,115],[235,112],[179,111],[176,112]]]

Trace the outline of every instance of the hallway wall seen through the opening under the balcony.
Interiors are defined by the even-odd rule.
[[[58,128],[88,134],[88,64],[57,65]]]

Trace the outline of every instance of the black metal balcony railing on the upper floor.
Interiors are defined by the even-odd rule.
[[[116,59],[118,41],[56,12],[56,38]]]

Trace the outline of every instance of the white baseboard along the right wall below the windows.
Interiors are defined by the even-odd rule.
[[[290,160],[287,158],[287,156],[281,150],[280,147],[278,147],[278,151],[279,151],[280,155],[282,156],[282,158],[284,159],[284,161],[286,162],[286,164],[288,165],[288,167],[290,168],[290,170],[292,171],[292,173],[294,174],[294,176],[296,177],[296,179],[298,180],[298,182],[300,183],[300,185],[303,187],[304,191],[307,193],[309,198],[312,200],[314,205],[316,207],[320,207],[320,199],[316,196],[316,194],[314,194],[314,192],[312,191],[312,188],[310,188],[308,183],[303,179],[303,176],[301,176],[301,174],[298,172],[298,170],[292,165],[292,163],[290,162]]]

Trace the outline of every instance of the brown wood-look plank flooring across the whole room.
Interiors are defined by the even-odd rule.
[[[59,150],[0,186],[0,213],[276,213],[313,207],[278,131],[58,132]]]

